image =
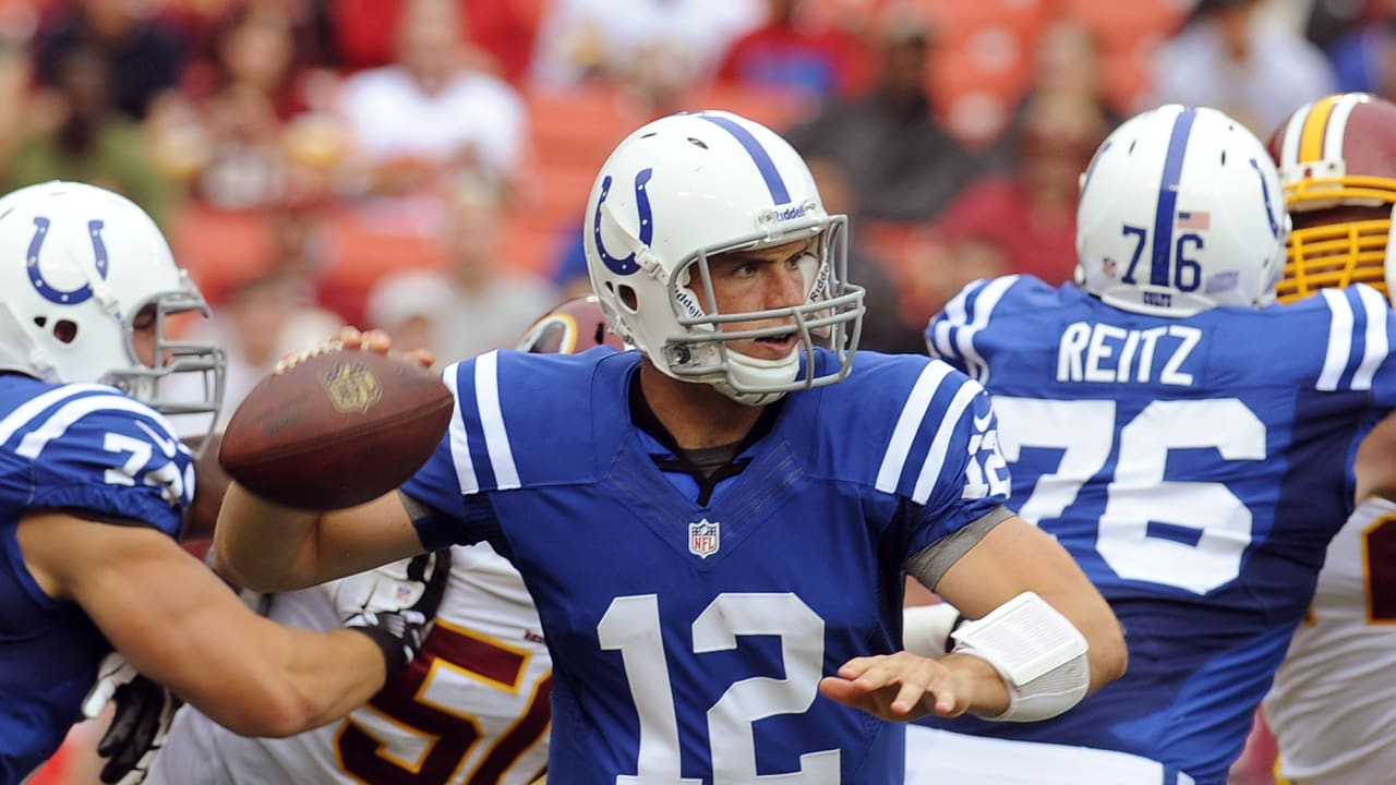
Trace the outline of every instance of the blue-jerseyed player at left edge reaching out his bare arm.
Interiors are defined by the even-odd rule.
[[[174,542],[194,475],[166,413],[216,413],[223,360],[165,332],[207,306],[154,221],[110,191],[45,183],[0,198],[0,784],[82,719],[113,648],[242,733],[293,733],[366,701],[423,624],[402,638],[281,627]],[[161,398],[181,373],[204,379],[207,401]],[[102,683],[119,704],[154,694],[131,684]],[[142,758],[103,779],[138,779]]]

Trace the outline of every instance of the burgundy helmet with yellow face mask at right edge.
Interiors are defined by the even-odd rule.
[[[1396,103],[1362,92],[1321,98],[1290,115],[1269,148],[1294,221],[1276,298],[1349,284],[1390,296]]]

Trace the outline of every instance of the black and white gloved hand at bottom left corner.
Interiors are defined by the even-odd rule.
[[[99,777],[107,785],[138,785],[165,744],[180,700],[113,652],[102,661],[82,714],[96,718],[107,703],[116,710],[96,744],[96,753],[106,758]]]

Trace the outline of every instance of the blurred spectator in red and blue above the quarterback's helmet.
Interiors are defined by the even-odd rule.
[[[850,98],[867,82],[863,45],[829,20],[812,20],[810,0],[766,0],[766,22],[738,38],[718,81],[796,89],[811,98]]]

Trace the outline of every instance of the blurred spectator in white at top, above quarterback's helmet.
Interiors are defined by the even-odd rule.
[[[688,80],[709,75],[723,52],[761,24],[762,0],[550,0],[533,54],[533,81],[567,87],[616,80],[645,52]]]

